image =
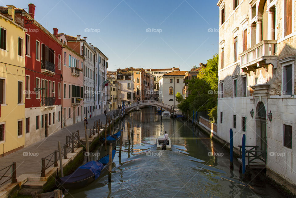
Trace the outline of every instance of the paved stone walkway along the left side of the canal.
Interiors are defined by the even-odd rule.
[[[114,110],[115,111],[115,110]],[[113,117],[113,112],[108,112],[110,117]],[[99,120],[105,124],[106,116],[104,114],[93,116],[88,118],[88,128],[92,128],[94,121]],[[85,138],[84,122],[81,121],[76,124],[72,124],[68,127],[62,128],[59,131],[51,134],[50,136],[35,142],[32,145],[18,150],[12,154],[9,154],[3,158],[0,158],[0,170],[6,166],[16,162],[16,176],[19,177],[22,174],[41,174],[41,158],[51,154],[54,150],[58,149],[58,141],[61,146],[66,142],[66,136],[79,130],[80,139]],[[89,130],[87,131],[89,133]],[[4,186],[4,184],[3,184]],[[0,191],[2,187],[0,186]]]

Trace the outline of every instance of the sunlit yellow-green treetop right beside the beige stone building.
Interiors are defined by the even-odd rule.
[[[204,67],[198,77],[204,79],[213,91],[218,91],[218,54],[216,53],[212,59],[207,60],[207,67]]]

